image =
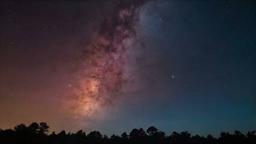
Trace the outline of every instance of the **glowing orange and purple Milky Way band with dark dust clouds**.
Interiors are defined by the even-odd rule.
[[[91,40],[81,46],[82,59],[69,85],[64,107],[76,119],[92,118],[115,106],[123,85],[132,82],[129,62],[131,46],[136,41],[135,25],[143,1],[121,1],[105,17]],[[127,66],[129,64],[129,66]]]

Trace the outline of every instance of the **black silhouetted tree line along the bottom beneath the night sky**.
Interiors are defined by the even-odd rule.
[[[163,131],[157,130],[156,127],[149,127],[146,131],[143,128],[133,128],[127,134],[122,133],[121,136],[112,135],[108,137],[101,134],[99,131],[91,131],[86,134],[85,131],[79,130],[76,133],[66,133],[62,130],[56,134],[53,131],[49,134],[49,126],[46,122],[32,122],[26,127],[25,124],[20,124],[13,129],[0,129],[0,143],[256,143],[256,132],[248,131],[245,135],[240,131],[234,131],[233,134],[221,132],[220,137],[215,138],[212,135],[207,137],[191,136],[187,131],[181,133],[173,132],[166,136]]]

